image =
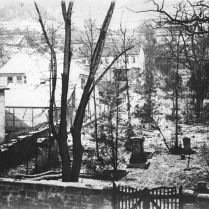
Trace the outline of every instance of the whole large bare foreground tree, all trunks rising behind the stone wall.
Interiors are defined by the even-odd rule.
[[[94,82],[95,74],[98,70],[98,66],[100,64],[100,59],[102,55],[102,51],[104,48],[105,38],[107,34],[107,29],[109,27],[109,23],[112,18],[113,10],[115,7],[115,2],[111,2],[110,8],[107,12],[107,15],[104,19],[102,28],[100,30],[99,38],[94,49],[94,52],[91,57],[90,63],[90,71],[89,76],[87,79],[87,83],[85,85],[78,110],[76,112],[76,116],[74,119],[73,126],[71,127],[71,134],[73,137],[73,162],[71,166],[68,146],[67,146],[67,122],[66,122],[66,110],[67,110],[67,93],[68,93],[68,83],[69,83],[69,72],[70,72],[70,62],[72,57],[71,52],[71,14],[72,14],[72,7],[73,2],[69,3],[68,9],[66,10],[65,2],[62,1],[62,14],[65,23],[65,47],[64,47],[64,64],[63,64],[63,74],[62,74],[62,96],[61,96],[61,121],[56,129],[54,122],[53,122],[53,104],[54,104],[54,92],[56,90],[56,52],[52,47],[52,44],[48,38],[47,32],[45,30],[39,9],[37,4],[35,3],[36,10],[39,14],[39,22],[42,27],[43,34],[45,36],[47,45],[50,48],[52,54],[51,66],[52,66],[52,94],[50,99],[50,124],[52,127],[52,133],[59,145],[60,156],[62,159],[62,181],[72,181],[77,182],[79,178],[79,173],[81,169],[81,162],[82,162],[82,155],[83,155],[83,146],[81,144],[81,129],[82,124],[85,116],[85,109],[91,93],[94,90],[95,85],[102,79],[105,73],[114,65],[117,59],[122,56],[127,50],[124,50],[120,54],[118,54],[111,64],[104,70],[104,72],[99,76],[99,78]]]

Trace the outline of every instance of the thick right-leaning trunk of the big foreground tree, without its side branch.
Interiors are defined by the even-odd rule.
[[[71,170],[71,181],[78,182],[79,173],[81,169],[82,155],[83,155],[83,147],[81,145],[81,129],[83,125],[83,118],[85,115],[86,105],[89,101],[91,95],[91,87],[93,86],[94,76],[98,69],[102,51],[104,48],[105,38],[107,34],[107,29],[112,18],[113,10],[115,7],[115,2],[112,2],[110,8],[105,17],[104,23],[102,25],[102,29],[100,30],[100,35],[98,42],[96,44],[93,57],[91,59],[90,65],[90,74],[88,80],[86,82],[80,104],[78,106],[78,110],[76,112],[75,120],[73,126],[71,127],[71,133],[73,136],[73,165]]]

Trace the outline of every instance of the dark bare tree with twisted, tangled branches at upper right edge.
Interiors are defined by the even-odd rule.
[[[160,27],[172,26],[181,29],[181,59],[184,67],[191,71],[193,90],[196,99],[196,117],[200,117],[203,108],[203,101],[208,94],[208,87],[205,85],[206,72],[204,66],[208,62],[208,9],[209,3],[199,0],[195,3],[185,1],[175,6],[174,13],[169,13],[164,7],[164,0],[161,5],[151,0],[156,9],[137,11],[155,12],[159,14]]]

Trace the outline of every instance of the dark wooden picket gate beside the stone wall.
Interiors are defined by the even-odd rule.
[[[182,186],[135,189],[115,187],[115,209],[182,209]]]

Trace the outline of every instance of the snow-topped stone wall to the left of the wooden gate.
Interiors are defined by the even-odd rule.
[[[0,208],[112,209],[111,187],[0,179]]]

